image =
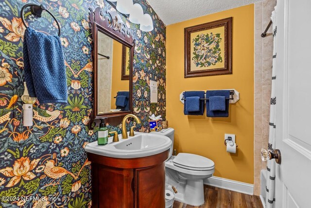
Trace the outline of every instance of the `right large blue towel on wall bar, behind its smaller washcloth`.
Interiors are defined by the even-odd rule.
[[[206,92],[206,98],[209,98],[206,102],[206,114],[207,117],[228,117],[229,116],[229,100],[225,99],[225,110],[215,110],[212,111],[210,109],[210,102],[213,101],[214,98],[210,100],[213,96],[224,96],[225,98],[230,98],[229,90],[211,90]]]

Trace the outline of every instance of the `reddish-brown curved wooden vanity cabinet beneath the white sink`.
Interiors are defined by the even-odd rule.
[[[92,162],[92,208],[164,208],[169,150],[140,158],[87,153]]]

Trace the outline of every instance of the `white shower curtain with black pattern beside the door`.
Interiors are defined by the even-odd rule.
[[[272,89],[270,99],[270,121],[269,121],[269,143],[268,151],[276,149],[276,7],[272,12],[271,20],[273,22],[273,61],[272,61]],[[266,184],[266,208],[275,207],[275,179],[276,162],[268,160],[267,162],[267,184]]]

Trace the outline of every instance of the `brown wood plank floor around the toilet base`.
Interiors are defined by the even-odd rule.
[[[199,207],[174,201],[173,208],[262,208],[259,196],[204,185],[205,204]]]

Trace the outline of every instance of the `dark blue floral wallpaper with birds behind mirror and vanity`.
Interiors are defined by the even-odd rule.
[[[142,120],[138,131],[148,132],[148,115],[165,118],[165,25],[145,0],[154,30],[123,20],[136,39],[134,55],[134,112]],[[68,86],[68,104],[34,104],[34,125],[22,125],[23,26],[19,12],[25,3],[44,4],[61,25]],[[96,141],[87,124],[92,112],[92,38],[89,7],[110,9],[103,0],[0,1],[0,208],[85,208],[91,206],[90,162],[84,148]],[[37,31],[57,34],[46,13],[26,22]],[[158,103],[150,104],[150,80],[158,82]],[[132,125],[131,122],[128,125]],[[121,132],[120,125],[109,126]],[[129,128],[129,126],[128,126]]]

